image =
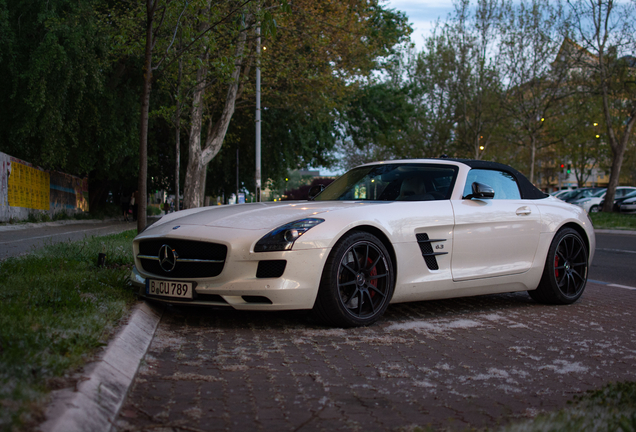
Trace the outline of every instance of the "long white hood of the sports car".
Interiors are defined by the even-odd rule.
[[[170,213],[153,226],[199,225],[248,230],[274,229],[285,223],[308,217],[324,217],[326,213],[351,207],[387,204],[360,201],[288,201],[202,207]]]

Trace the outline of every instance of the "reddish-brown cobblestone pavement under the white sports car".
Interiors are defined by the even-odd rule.
[[[636,291],[393,305],[367,328],[299,313],[168,308],[119,431],[461,431],[558,410],[634,380]]]

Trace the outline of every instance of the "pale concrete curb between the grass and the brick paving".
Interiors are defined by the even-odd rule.
[[[87,366],[77,389],[52,394],[42,432],[110,431],[163,314],[144,302],[110,341],[101,360]]]

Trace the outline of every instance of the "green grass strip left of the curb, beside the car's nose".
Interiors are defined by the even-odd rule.
[[[60,377],[104,345],[135,297],[134,230],[48,245],[0,262],[0,430],[38,421]],[[106,254],[106,266],[97,256]]]

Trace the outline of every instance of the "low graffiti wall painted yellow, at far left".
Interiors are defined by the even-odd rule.
[[[0,152],[0,222],[88,211],[88,179],[49,172]]]

